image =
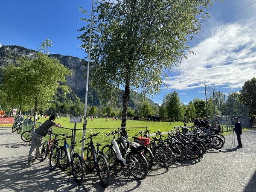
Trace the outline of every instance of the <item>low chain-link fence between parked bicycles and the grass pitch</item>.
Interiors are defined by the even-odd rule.
[[[41,122],[34,122],[34,121],[29,121],[29,120],[26,121],[26,120],[22,120],[22,119],[15,117],[15,123],[20,120],[23,123],[23,130],[20,132],[20,134],[22,134],[24,131],[31,130],[34,123],[36,125],[35,128],[38,128],[42,124]],[[110,137],[107,137],[106,134],[111,133],[111,131],[119,131],[119,130],[121,130],[120,127],[117,127],[117,128],[87,128],[85,131],[85,137],[89,137],[90,134],[100,132],[100,134],[97,137],[93,137],[93,143],[100,143],[103,147],[106,144],[110,144],[110,141],[113,140],[112,135]],[[135,136],[138,132],[143,131],[143,130],[147,131],[148,127],[127,127],[126,131],[128,131],[128,135],[129,135],[128,140],[133,141],[134,139],[132,138],[132,136]],[[72,138],[67,139],[67,143],[70,145],[71,140],[75,141],[76,142],[75,152],[81,154],[82,143],[80,143],[80,140],[83,139],[83,129],[52,127],[52,132],[55,134],[68,134],[69,136],[73,136]],[[120,137],[120,134],[118,134],[117,137]],[[116,139],[117,139],[117,137],[116,137]],[[60,138],[61,138],[61,136],[60,136]],[[53,138],[51,138],[51,139],[53,139]],[[47,140],[49,141],[48,134],[44,137],[44,141],[47,141]],[[59,143],[59,146],[62,145],[62,142],[64,143],[64,141],[61,141]],[[87,143],[90,143],[90,140],[84,141],[85,147],[87,146],[86,145]],[[101,147],[100,147],[100,149],[101,149]]]

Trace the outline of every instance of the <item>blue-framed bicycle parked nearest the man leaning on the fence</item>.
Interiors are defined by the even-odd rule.
[[[66,170],[68,167],[71,167],[71,173],[74,177],[76,183],[81,183],[84,179],[84,168],[83,160],[79,153],[74,153],[74,146],[76,142],[71,142],[70,145],[67,144],[67,139],[72,138],[73,136],[65,135],[65,138],[58,139],[57,141],[64,140],[64,145],[59,147],[59,156],[58,156],[58,166],[61,170]],[[69,150],[70,149],[70,152]],[[70,178],[69,178],[70,179]]]

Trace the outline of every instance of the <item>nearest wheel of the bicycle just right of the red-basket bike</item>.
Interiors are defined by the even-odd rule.
[[[166,145],[157,145],[154,157],[160,166],[169,167],[173,163],[173,154],[169,147]]]

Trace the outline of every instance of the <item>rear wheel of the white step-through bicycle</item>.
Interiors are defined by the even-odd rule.
[[[131,175],[137,180],[143,180],[148,175],[148,163],[142,154],[129,153],[126,164]]]

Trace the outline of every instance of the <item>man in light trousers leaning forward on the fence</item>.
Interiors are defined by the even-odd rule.
[[[28,163],[32,163],[35,159],[41,158],[41,146],[44,142],[44,136],[50,130],[52,126],[61,127],[61,124],[56,124],[54,122],[55,116],[52,115],[46,120],[39,128],[35,130],[32,134],[32,143],[29,150],[29,161]],[[34,151],[35,151],[35,159],[34,159]]]

